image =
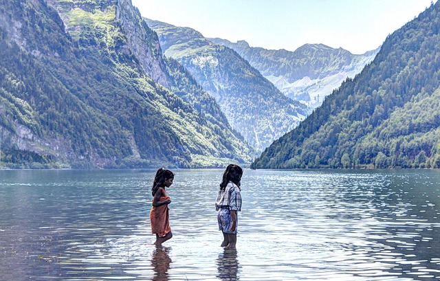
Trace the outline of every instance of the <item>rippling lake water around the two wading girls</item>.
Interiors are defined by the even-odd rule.
[[[151,245],[155,170],[0,170],[0,280],[439,280],[439,170],[245,170],[237,249],[223,170],[174,170],[174,237]]]

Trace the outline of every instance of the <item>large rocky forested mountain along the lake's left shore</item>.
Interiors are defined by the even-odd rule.
[[[129,0],[0,0],[0,166],[216,167],[253,148]]]

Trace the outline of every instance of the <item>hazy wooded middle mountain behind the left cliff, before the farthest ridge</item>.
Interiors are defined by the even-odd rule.
[[[157,32],[164,55],[188,69],[256,150],[263,151],[310,113],[229,47],[214,44],[189,27],[144,21]]]

